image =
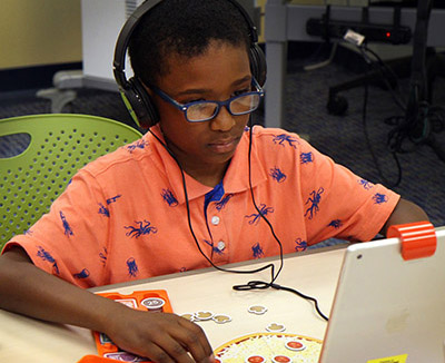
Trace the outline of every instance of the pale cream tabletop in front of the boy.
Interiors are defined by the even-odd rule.
[[[277,284],[296,288],[318,300],[319,307],[329,314],[344,248],[319,248],[285,256]],[[277,258],[264,258],[235,266],[250,269]],[[320,318],[312,302],[285,291],[234,291],[233,285],[251,279],[268,282],[270,272],[229,274],[212,268],[159,276],[131,284],[109,285],[95,291],[130,294],[142,290],[166,290],[177,314],[211,311],[231,316],[231,322],[217,324],[202,321],[214,349],[235,337],[266,331],[270,323],[286,326],[286,333],[324,339],[327,323]],[[268,308],[264,315],[248,313],[253,304]],[[97,354],[91,331],[70,325],[41,322],[0,310],[0,362],[77,362],[83,355]]]

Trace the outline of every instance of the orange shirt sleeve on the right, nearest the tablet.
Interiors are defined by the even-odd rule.
[[[332,237],[373,239],[389,218],[399,195],[355,175],[304,140],[300,160],[308,245]]]

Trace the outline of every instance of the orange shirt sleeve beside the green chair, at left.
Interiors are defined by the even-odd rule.
[[[21,246],[39,268],[81,287],[101,285],[107,259],[109,212],[101,188],[79,171],[26,234],[11,238],[3,252]]]

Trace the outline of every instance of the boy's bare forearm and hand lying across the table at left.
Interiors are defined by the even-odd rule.
[[[20,247],[0,256],[0,307],[106,333],[119,347],[155,362],[211,362],[210,344],[198,325],[175,314],[136,311],[71,285],[36,267]]]

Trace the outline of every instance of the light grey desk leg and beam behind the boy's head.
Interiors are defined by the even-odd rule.
[[[283,127],[285,109],[285,79],[287,63],[287,42],[324,41],[319,37],[308,36],[306,21],[309,18],[322,18],[326,7],[300,6],[288,3],[287,0],[267,0],[265,7],[265,40],[267,60],[266,82],[266,126]],[[330,7],[332,20],[360,21],[360,7]],[[375,23],[393,23],[393,8],[370,7],[369,21]],[[445,10],[434,9],[429,18],[428,46],[445,46],[443,36],[445,27]],[[416,9],[403,8],[400,24],[411,27],[413,33],[416,24]]]

